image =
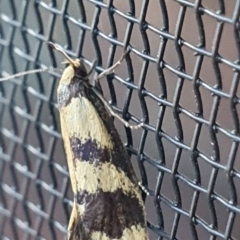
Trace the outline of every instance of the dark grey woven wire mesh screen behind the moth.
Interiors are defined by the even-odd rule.
[[[150,239],[240,239],[239,0],[1,0],[3,77],[61,65],[44,42],[97,72],[148,187]],[[0,83],[0,238],[66,239],[72,191],[59,73]],[[94,77],[92,76],[92,77]]]

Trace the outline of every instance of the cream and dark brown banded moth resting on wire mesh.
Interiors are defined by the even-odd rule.
[[[69,240],[147,240],[144,203],[132,164],[112,116],[115,114],[83,62],[66,58],[57,88],[61,132],[74,194]],[[112,71],[124,56],[99,75]]]

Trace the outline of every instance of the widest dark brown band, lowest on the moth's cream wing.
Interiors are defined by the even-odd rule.
[[[125,195],[121,189],[115,192],[99,190],[95,194],[78,192],[76,201],[84,204],[82,226],[89,235],[84,238],[91,239],[91,233],[100,231],[109,238],[118,239],[125,229],[133,226],[145,228],[145,216],[142,203],[131,195]],[[83,240],[83,239],[82,239]]]

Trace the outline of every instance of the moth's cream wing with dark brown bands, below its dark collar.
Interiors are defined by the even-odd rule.
[[[96,108],[79,96],[60,109],[60,116],[75,195],[69,239],[147,240],[139,189],[121,168],[119,157],[125,155],[116,154]]]

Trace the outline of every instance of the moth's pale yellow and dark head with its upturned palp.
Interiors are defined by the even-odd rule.
[[[47,44],[56,51],[60,52],[66,58],[66,61],[63,63],[69,64],[69,66],[63,71],[60,83],[69,84],[74,77],[78,77],[82,81],[88,81],[89,74],[87,73],[83,62],[80,59],[72,59],[64,52],[62,48],[53,44],[52,42],[47,42]]]

